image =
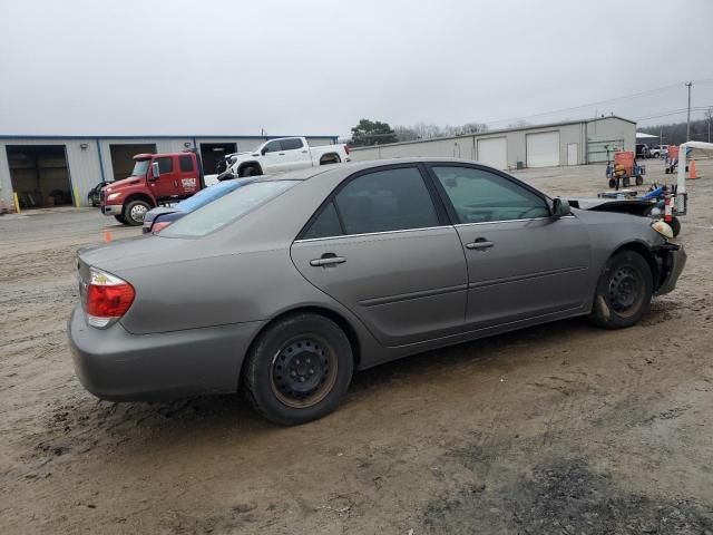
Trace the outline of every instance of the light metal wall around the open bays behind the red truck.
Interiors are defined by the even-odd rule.
[[[265,137],[102,137],[102,138],[66,138],[66,137],[3,137],[0,139],[0,198],[6,207],[13,206],[12,181],[8,164],[8,145],[61,145],[66,149],[67,166],[71,182],[72,195],[76,193],[81,205],[87,205],[87,194],[101,176],[113,179],[111,145],[155,144],[159,153],[180,152],[199,147],[202,143],[235,143],[238,150],[252,150],[265,142]],[[330,145],[336,137],[309,137],[312,146]]]

